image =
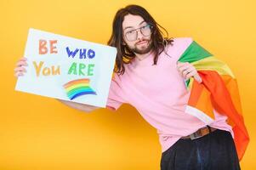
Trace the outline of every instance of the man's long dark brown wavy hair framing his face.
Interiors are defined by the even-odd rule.
[[[128,5],[125,8],[120,8],[115,15],[112,25],[112,34],[110,40],[107,42],[108,45],[117,48],[117,58],[115,72],[118,74],[123,74],[125,71],[124,64],[128,64],[131,59],[134,59],[135,54],[123,43],[122,35],[122,21],[124,16],[128,14],[134,14],[141,16],[147,24],[152,26],[152,51],[155,54],[154,63],[156,65],[158,55],[162,53],[164,48],[174,41],[173,38],[164,38],[163,32],[159,29],[162,28],[166,32],[168,37],[168,31],[166,31],[162,26],[156,23],[151,14],[149,14],[145,8],[139,5]]]

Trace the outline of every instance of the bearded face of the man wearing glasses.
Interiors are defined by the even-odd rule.
[[[149,29],[151,28],[141,16],[133,14],[124,16],[122,38],[135,54],[147,54],[151,51],[151,31]]]

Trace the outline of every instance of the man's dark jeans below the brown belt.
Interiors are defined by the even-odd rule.
[[[162,153],[161,170],[240,169],[229,132],[215,130],[199,139],[179,139]]]

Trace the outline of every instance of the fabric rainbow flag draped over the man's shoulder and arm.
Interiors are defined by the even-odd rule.
[[[213,110],[225,114],[227,123],[233,129],[237,155],[241,160],[249,135],[243,121],[236,77],[228,65],[195,41],[191,41],[179,61],[194,65],[202,77],[202,83],[193,79],[186,81],[187,88],[191,90],[186,112],[208,124],[214,120]]]

